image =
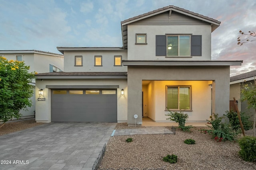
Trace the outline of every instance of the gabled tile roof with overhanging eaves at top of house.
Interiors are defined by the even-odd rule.
[[[197,14],[195,12],[191,12],[189,10],[185,10],[185,9],[179,8],[177,6],[169,5],[169,6],[165,6],[163,8],[159,8],[157,10],[153,10],[153,11],[147,12],[145,14],[138,15],[138,16],[129,18],[127,20],[121,21],[122,38],[123,38],[123,47],[124,47],[124,49],[127,48],[127,39],[128,39],[128,36],[127,36],[127,25],[128,24],[136,22],[136,21],[139,21],[139,20],[143,20],[145,18],[149,18],[151,16],[155,16],[157,14],[161,14],[161,13],[167,12],[167,11],[170,12],[170,15],[171,15],[172,11],[175,11],[175,12],[178,12],[180,14],[184,14],[186,16],[190,16],[192,18],[196,18],[198,20],[206,21],[206,22],[208,22],[208,23],[210,23],[212,25],[212,31],[214,31],[218,26],[220,26],[220,21],[218,21],[218,20],[214,20],[213,18],[210,18],[210,17],[207,17],[207,16],[203,16],[203,15]]]

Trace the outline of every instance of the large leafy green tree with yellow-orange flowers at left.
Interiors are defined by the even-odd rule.
[[[20,109],[26,110],[32,105],[29,98],[34,92],[30,85],[34,72],[28,70],[29,66],[23,61],[8,61],[0,57],[0,120],[4,123],[12,117],[18,119]]]

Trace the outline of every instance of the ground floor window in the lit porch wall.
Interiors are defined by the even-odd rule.
[[[191,109],[191,86],[166,86],[168,109]]]

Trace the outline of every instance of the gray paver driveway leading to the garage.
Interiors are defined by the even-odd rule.
[[[91,170],[116,123],[46,123],[0,136],[0,170]]]

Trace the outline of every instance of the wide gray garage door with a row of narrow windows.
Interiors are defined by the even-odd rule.
[[[52,89],[51,120],[117,122],[116,89]]]

